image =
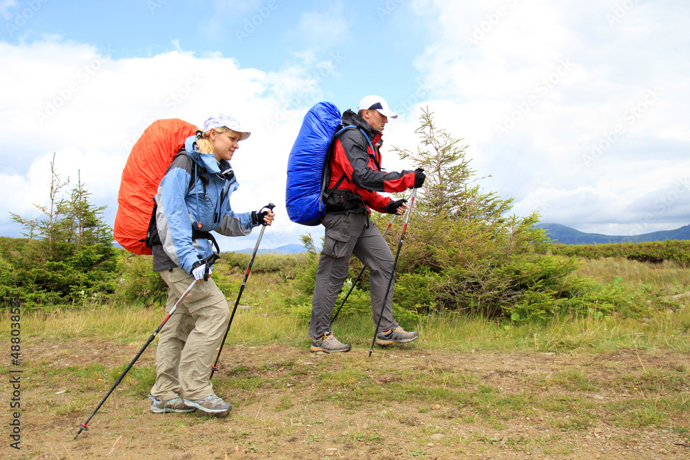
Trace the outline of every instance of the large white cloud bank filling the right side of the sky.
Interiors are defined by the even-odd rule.
[[[416,3],[437,11],[440,25],[416,61],[426,86],[444,99],[428,104],[437,122],[471,144],[479,174],[493,176],[484,186],[514,197],[516,212],[633,231],[644,219],[637,200],[678,180],[664,172],[671,161],[676,172],[687,164],[690,65],[678,45],[690,41],[687,8]],[[671,217],[682,206],[671,203],[647,226],[687,224]]]

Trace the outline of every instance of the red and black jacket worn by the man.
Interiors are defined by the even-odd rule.
[[[402,192],[413,188],[415,172],[405,170],[384,172],[381,169],[381,152],[379,151],[382,145],[381,132],[372,128],[352,110],[347,110],[343,114],[342,124],[356,126],[359,129],[345,130],[335,140],[328,188],[335,187],[335,190],[344,190],[351,192],[355,197],[361,197],[364,209],[348,211],[371,212],[369,210],[371,207],[379,212],[385,212],[384,208],[391,202],[391,198],[377,192]],[[364,139],[362,131],[368,137],[368,141]],[[333,212],[333,209],[329,209],[329,201],[331,200],[326,201],[326,212]]]

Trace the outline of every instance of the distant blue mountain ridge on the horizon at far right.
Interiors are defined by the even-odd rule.
[[[645,241],[666,241],[667,239],[690,239],[690,225],[676,230],[643,233],[632,236],[615,236],[600,233],[584,233],[560,223],[538,223],[535,227],[546,231],[546,236],[554,243],[562,244],[605,244],[605,243],[643,243]]]

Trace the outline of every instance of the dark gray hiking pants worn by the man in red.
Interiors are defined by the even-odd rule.
[[[374,327],[382,308],[384,313],[379,330],[397,327],[391,306],[393,285],[384,306],[384,295],[393,272],[393,253],[379,229],[364,213],[325,214],[321,218],[321,223],[326,227],[326,237],[319,258],[314,297],[311,301],[309,337],[317,339],[323,337],[324,333],[331,332],[331,314],[335,300],[347,279],[351,254],[355,254],[355,257],[369,268],[369,292]]]

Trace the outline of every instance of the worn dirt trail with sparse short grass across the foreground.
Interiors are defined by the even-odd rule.
[[[690,366],[670,350],[468,353],[408,346],[369,359],[363,348],[317,355],[281,344],[230,345],[214,383],[235,408],[217,418],[148,412],[151,349],[137,363],[139,373],[128,374],[74,440],[112,385],[112,369],[139,347],[95,339],[28,343],[21,451],[5,441],[0,457],[690,459]],[[104,366],[102,381],[97,364]],[[661,411],[671,400],[684,411],[669,408],[661,426],[626,423],[634,404],[627,418],[616,410],[640,392]],[[3,401],[9,398],[3,390]]]

